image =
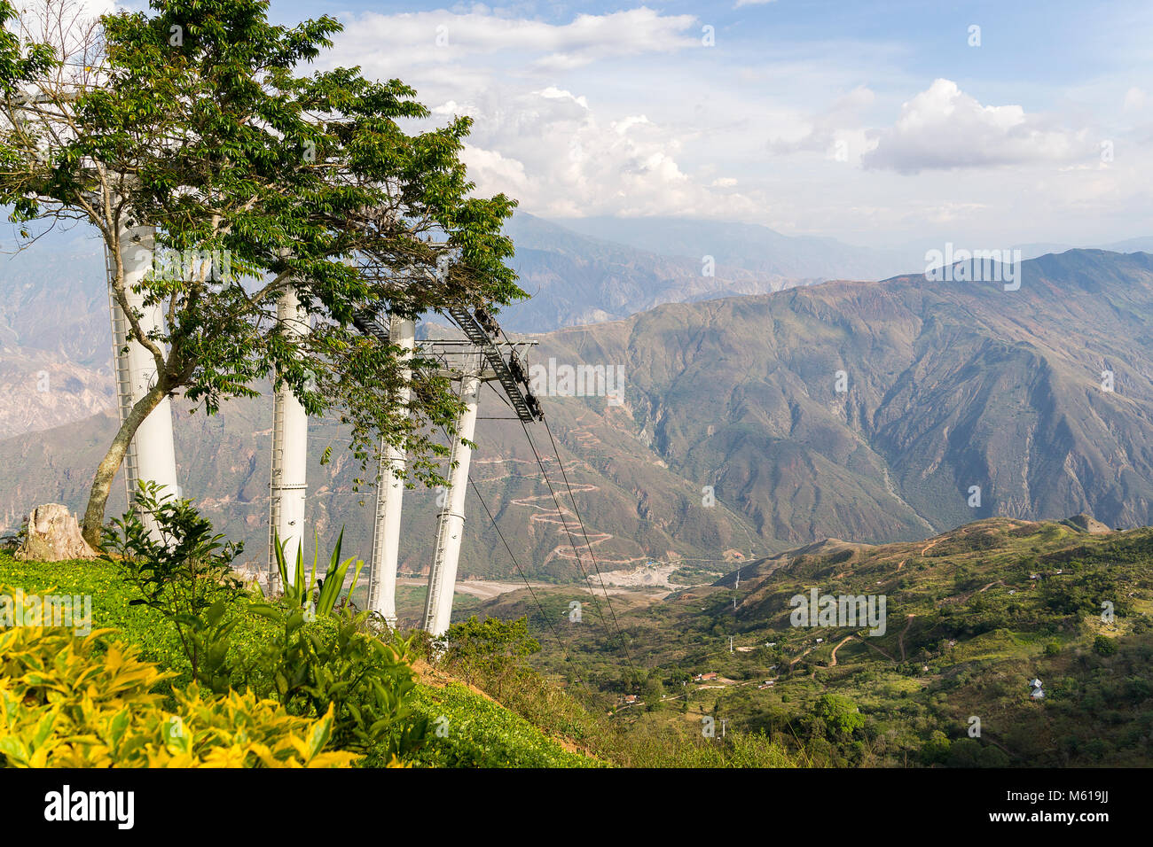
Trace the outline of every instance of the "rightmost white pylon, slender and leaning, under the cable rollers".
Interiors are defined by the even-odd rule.
[[[476,430],[476,403],[481,391],[480,354],[469,354],[460,377],[460,399],[465,408],[457,421],[457,432],[449,456],[451,468],[449,492],[436,536],[436,555],[429,570],[429,591],[424,600],[423,629],[432,636],[444,635],[452,619],[452,596],[457,587],[457,565],[465,530],[465,492],[468,487],[468,463]]]

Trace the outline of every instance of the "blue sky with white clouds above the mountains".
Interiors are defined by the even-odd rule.
[[[854,244],[1153,235],[1153,3],[272,0],[475,120],[477,191]]]

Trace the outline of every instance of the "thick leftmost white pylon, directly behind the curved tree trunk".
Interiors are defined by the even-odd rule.
[[[150,226],[133,226],[131,221],[120,230],[120,260],[125,267],[125,295],[128,307],[138,316],[141,331],[145,335],[163,333],[164,310],[159,303],[144,305],[144,294],[134,292],[152,270],[156,254],[156,229]],[[113,366],[116,379],[116,408],[120,422],[131,413],[133,407],[156,385],[156,358],[138,341],[129,338],[130,324],[112,292],[116,263],[112,252],[105,249],[108,270],[108,300],[112,311]],[[125,455],[125,483],[128,489],[128,505],[135,507],[140,482],[153,482],[164,486],[159,497],[180,497],[176,481],[176,449],[172,437],[172,403],[164,398],[141,423],[133,436]],[[159,530],[151,515],[140,515],[153,538]]]

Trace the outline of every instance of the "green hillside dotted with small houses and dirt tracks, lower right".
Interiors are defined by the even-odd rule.
[[[1153,529],[989,519],[912,544],[811,545],[744,568],[739,588],[734,576],[663,603],[616,604],[639,678],[595,621],[564,630],[621,720],[723,718],[791,740],[817,764],[1153,762]],[[792,626],[791,598],[814,587],[884,596],[884,634]],[[529,605],[505,596],[489,608],[510,617]],[[545,663],[563,666],[545,645]],[[1031,697],[1034,678],[1042,701]]]

